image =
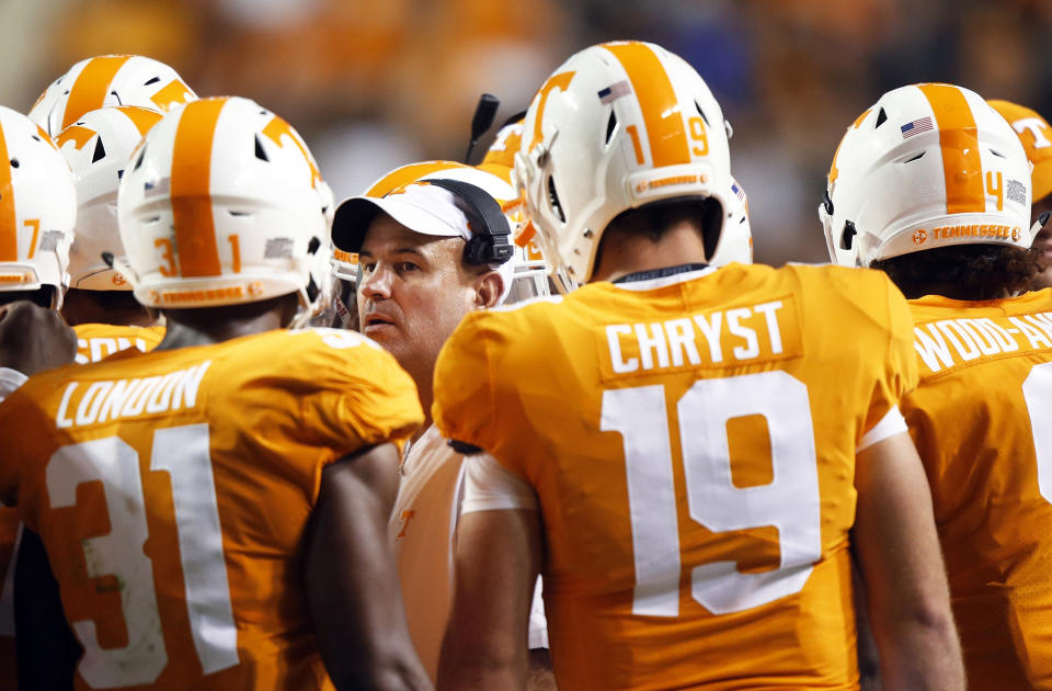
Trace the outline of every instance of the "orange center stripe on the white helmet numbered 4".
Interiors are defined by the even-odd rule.
[[[917,88],[931,105],[939,128],[942,174],[946,178],[946,213],[986,211],[979,131],[964,94],[950,84],[918,84]]]

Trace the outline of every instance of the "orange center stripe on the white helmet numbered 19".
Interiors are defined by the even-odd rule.
[[[683,126],[679,100],[658,55],[641,43],[607,44],[632,82],[643,111],[654,168],[690,162],[687,132]],[[723,126],[723,123],[719,123]]]

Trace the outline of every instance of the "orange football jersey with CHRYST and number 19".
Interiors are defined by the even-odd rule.
[[[434,418],[539,497],[560,689],[857,688],[855,455],[911,328],[882,274],[802,265],[465,319]]]

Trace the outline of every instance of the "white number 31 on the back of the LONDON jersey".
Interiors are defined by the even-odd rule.
[[[205,673],[238,664],[219,509],[208,454],[208,426],[157,430],[150,469],[169,473],[186,609]],[[139,454],[117,437],[62,446],[46,471],[53,508],[77,503],[77,488],[101,482],[112,530],[82,541],[90,578],[113,575],[122,586],[128,645],[103,648],[93,621],[72,622],[84,656],[79,671],[94,689],[152,683],[168,665],[153,566],[142,551],[148,534]]]

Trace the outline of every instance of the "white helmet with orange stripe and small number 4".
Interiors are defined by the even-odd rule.
[[[819,206],[834,263],[951,245],[1029,248],[1022,144],[977,93],[926,83],[889,91],[847,128]]]

